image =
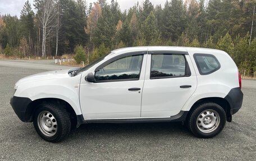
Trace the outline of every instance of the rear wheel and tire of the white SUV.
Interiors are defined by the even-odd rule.
[[[226,123],[224,109],[216,103],[198,105],[188,117],[189,130],[201,138],[211,138],[218,135]]]

